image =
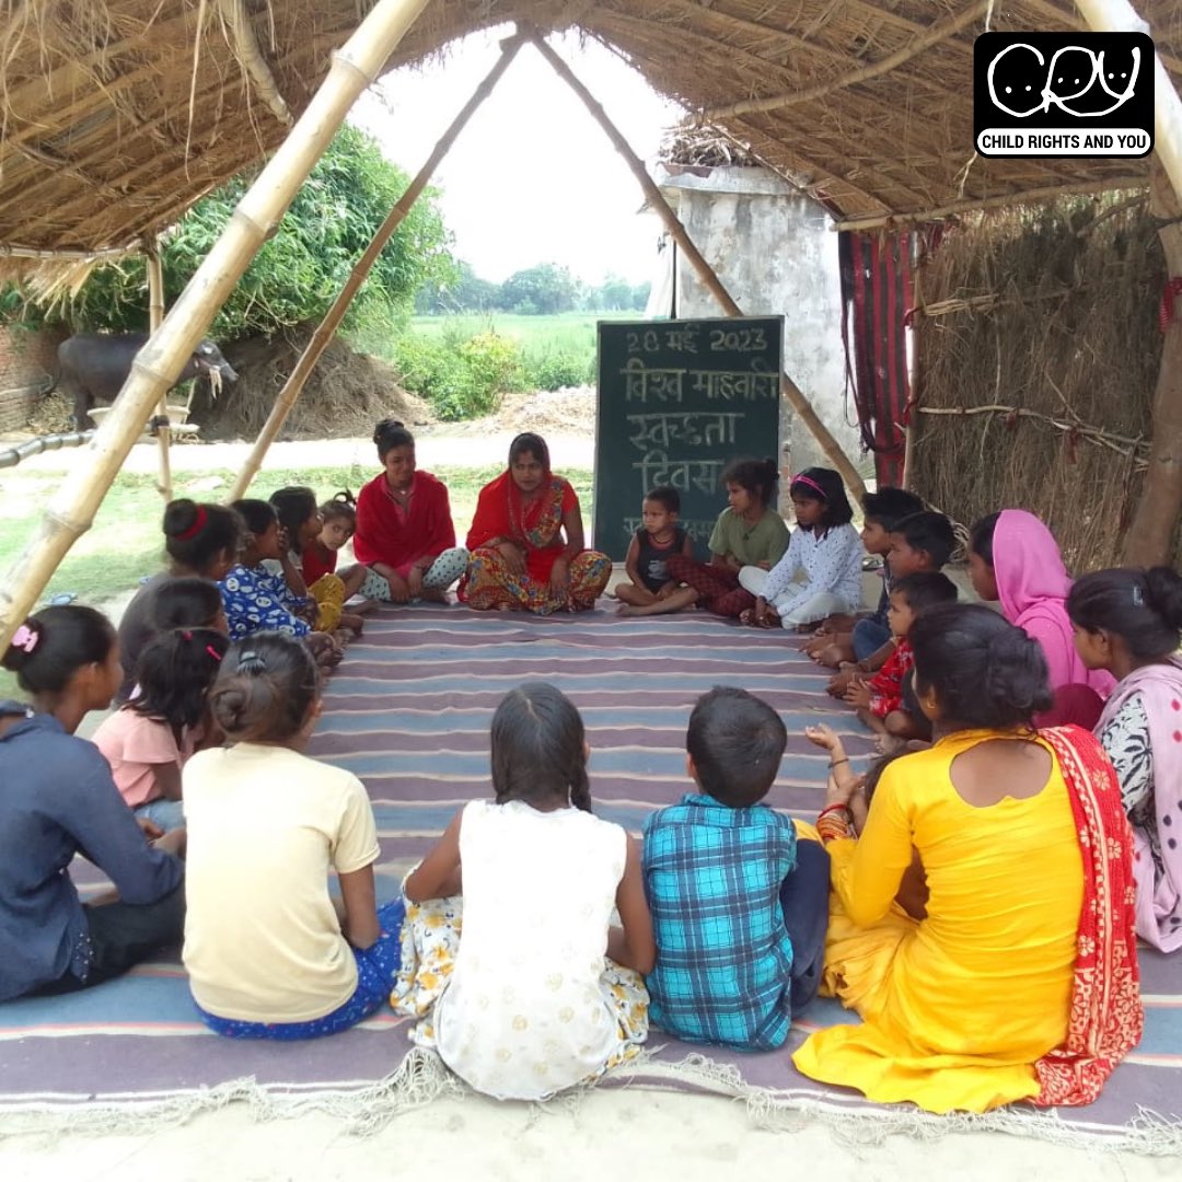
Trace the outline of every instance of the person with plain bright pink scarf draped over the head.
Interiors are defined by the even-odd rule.
[[[1043,648],[1054,704],[1034,725],[1091,730],[1116,681],[1104,669],[1090,670],[1076,652],[1066,608],[1071,576],[1054,534],[1025,509],[992,513],[970,531],[968,569],[973,590],[1000,599],[1006,619]]]

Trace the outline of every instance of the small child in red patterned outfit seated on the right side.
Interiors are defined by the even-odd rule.
[[[956,602],[956,584],[947,574],[921,571],[898,579],[890,592],[891,643],[895,651],[869,680],[859,675],[845,691],[845,700],[858,707],[858,717],[871,730],[900,742],[884,742],[883,749],[902,746],[908,739],[929,738],[926,720],[917,719],[904,702],[904,683],[915,655],[908,634],[929,608]]]

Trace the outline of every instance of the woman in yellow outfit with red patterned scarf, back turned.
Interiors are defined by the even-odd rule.
[[[812,1034],[793,1061],[931,1112],[1090,1104],[1143,1021],[1116,774],[1090,732],[1032,728],[1052,701],[1046,658],[1001,616],[942,605],[909,638],[935,742],[885,768],[869,810],[836,752],[817,824],[832,868],[821,988],[863,1021]],[[904,911],[916,875],[927,902],[904,890]]]

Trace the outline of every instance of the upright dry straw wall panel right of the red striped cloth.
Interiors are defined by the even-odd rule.
[[[916,491],[965,522],[1031,509],[1073,570],[1118,564],[1152,434],[1163,282],[1139,196],[949,232],[921,272]]]

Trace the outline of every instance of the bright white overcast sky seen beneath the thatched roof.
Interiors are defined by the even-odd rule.
[[[375,135],[409,174],[468,100],[498,56],[498,34],[476,33],[423,70],[388,74],[350,119]],[[649,160],[680,108],[597,43],[551,44]],[[560,262],[598,282],[608,272],[651,279],[660,223],[639,214],[636,178],[586,109],[525,46],[435,174],[455,254],[500,282],[537,262]]]

